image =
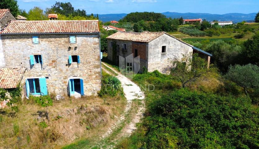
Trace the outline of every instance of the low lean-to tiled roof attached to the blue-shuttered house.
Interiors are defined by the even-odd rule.
[[[1,68],[0,69],[0,88],[16,88],[20,83],[25,68]]]

